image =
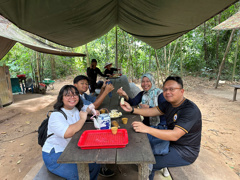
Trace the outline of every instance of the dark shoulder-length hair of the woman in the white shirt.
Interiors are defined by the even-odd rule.
[[[73,85],[65,85],[61,88],[61,90],[58,93],[58,97],[57,97],[57,102],[56,104],[54,104],[54,109],[56,110],[60,110],[64,104],[63,104],[63,96],[67,95],[69,92],[78,95],[78,103],[76,104],[76,108],[80,111],[83,107],[83,102],[79,96],[79,92],[77,90],[77,88]]]

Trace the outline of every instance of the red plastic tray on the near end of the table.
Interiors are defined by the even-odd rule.
[[[128,144],[126,129],[118,129],[112,134],[111,129],[84,131],[78,141],[81,149],[124,148]]]

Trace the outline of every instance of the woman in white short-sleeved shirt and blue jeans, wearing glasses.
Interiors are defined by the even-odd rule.
[[[67,120],[60,112],[52,112],[48,121],[48,135],[42,148],[43,161],[48,170],[66,179],[79,179],[76,164],[59,164],[58,158],[66,148],[72,136],[78,132],[87,119],[87,112],[80,111],[83,106],[77,88],[65,85],[61,88],[54,109],[62,110]],[[91,180],[97,180],[100,165],[89,164]]]

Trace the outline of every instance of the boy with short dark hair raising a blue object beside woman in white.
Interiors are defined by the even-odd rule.
[[[101,88],[101,92],[97,97],[89,96],[86,94],[86,91],[88,90],[89,79],[84,75],[76,76],[73,80],[73,84],[79,91],[80,98],[83,101],[84,109],[87,109],[90,104],[93,104],[97,109],[102,104],[108,93],[114,89],[112,84],[106,84],[105,81]],[[102,165],[100,169],[100,175],[104,177],[110,177],[114,175],[114,172],[108,169],[106,165]]]

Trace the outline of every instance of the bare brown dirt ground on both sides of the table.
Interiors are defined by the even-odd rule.
[[[14,103],[0,110],[0,179],[20,180],[41,160],[37,129],[56,100],[59,89],[73,77],[57,80],[54,90],[41,94],[14,95]],[[233,102],[233,87],[226,82],[214,89],[215,81],[185,77],[185,97],[202,112],[202,144],[217,154],[240,176],[240,95]],[[240,178],[239,178],[240,179]]]

